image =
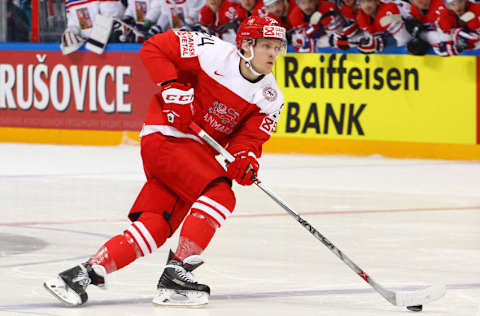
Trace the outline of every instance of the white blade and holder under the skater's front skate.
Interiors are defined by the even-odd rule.
[[[157,289],[152,303],[171,307],[200,307],[208,304],[208,297],[206,292],[161,288]]]

